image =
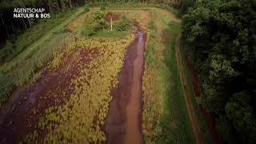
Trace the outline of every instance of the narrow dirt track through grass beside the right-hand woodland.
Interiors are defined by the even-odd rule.
[[[186,110],[189,114],[190,122],[192,125],[192,130],[194,133],[194,138],[195,138],[197,144],[201,144],[201,143],[205,143],[205,141],[204,141],[198,120],[194,114],[194,108],[193,108],[193,104],[191,102],[190,93],[186,88],[186,78],[183,75],[184,72],[182,69],[182,58],[181,58],[181,54],[179,51],[179,39],[180,38],[181,38],[181,34],[179,34],[178,37],[176,38],[176,46],[175,46],[175,56],[176,56],[176,60],[178,63],[178,71],[179,71],[178,73],[179,73],[179,76],[180,76],[180,79],[182,82],[182,91],[183,91],[185,102],[186,102]]]

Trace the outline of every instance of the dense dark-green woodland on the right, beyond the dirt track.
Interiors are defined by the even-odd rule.
[[[201,102],[229,143],[256,142],[256,1],[204,0],[183,17]]]

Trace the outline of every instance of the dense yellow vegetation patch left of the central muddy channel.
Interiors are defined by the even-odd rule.
[[[38,127],[49,131],[44,142],[94,143],[106,140],[101,126],[112,98],[110,90],[118,85],[118,73],[122,68],[126,48],[133,39],[132,34],[125,39],[82,38],[70,43],[62,54],[55,57],[61,59],[63,54],[73,54],[75,47],[97,48],[99,53],[86,68],[79,69],[81,76],[70,83],[74,86],[70,100],[62,106],[47,109],[46,115],[40,118]],[[57,68],[58,64],[51,63],[50,66]],[[37,136],[34,133],[32,135]],[[30,134],[27,138],[30,141],[33,137]]]

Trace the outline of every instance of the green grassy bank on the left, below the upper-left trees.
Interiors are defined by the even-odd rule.
[[[20,49],[17,51],[18,55],[0,67],[0,107],[9,100],[12,90],[39,78],[41,76],[39,69],[53,57],[56,51],[74,39],[73,34],[64,31],[64,26],[83,11],[83,9],[71,10],[60,18],[39,23],[19,36],[16,42],[16,46]]]

